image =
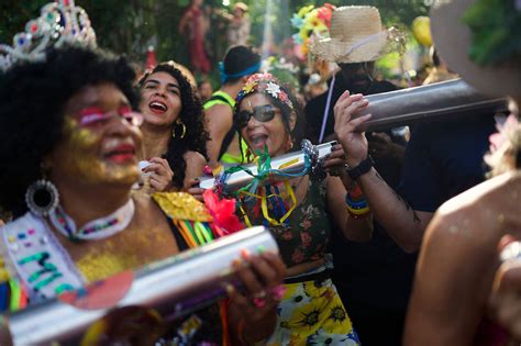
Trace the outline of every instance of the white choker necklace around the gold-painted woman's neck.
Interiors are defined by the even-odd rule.
[[[114,235],[129,226],[134,217],[135,205],[132,199],[112,214],[87,223],[77,230],[76,223],[60,205],[49,214],[53,226],[73,242],[98,241]]]

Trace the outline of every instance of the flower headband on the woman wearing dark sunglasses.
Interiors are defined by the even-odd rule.
[[[280,85],[278,81],[271,76],[271,74],[255,74],[252,75],[247,80],[246,85],[243,87],[243,89],[239,92],[236,99],[235,99],[235,108],[239,108],[239,104],[241,101],[248,94],[255,93],[255,92],[263,92],[266,93],[267,96],[273,97],[274,99],[279,100],[291,111],[295,110],[293,103],[289,99],[288,93],[281,89]]]

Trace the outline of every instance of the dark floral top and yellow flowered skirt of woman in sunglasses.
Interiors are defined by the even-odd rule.
[[[250,220],[263,224],[255,215]],[[309,179],[308,193],[289,216],[288,225],[269,230],[287,267],[324,258],[331,234],[325,181]],[[325,266],[315,268],[299,276],[302,280],[293,277],[288,280],[291,283],[285,283],[276,330],[264,345],[359,345],[336,288],[324,270]],[[310,279],[313,275],[315,279]]]

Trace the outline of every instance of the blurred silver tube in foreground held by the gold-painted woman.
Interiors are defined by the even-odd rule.
[[[232,263],[244,250],[278,253],[278,247],[269,231],[262,226],[234,233],[134,274],[123,272],[7,315],[0,328],[0,344],[79,345],[92,323],[119,311],[124,316],[125,311],[132,313],[136,306],[157,311],[165,322],[178,319],[225,294],[225,286],[233,281]],[[106,306],[97,309],[100,305]]]

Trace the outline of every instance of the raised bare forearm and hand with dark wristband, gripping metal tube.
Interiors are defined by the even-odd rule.
[[[352,119],[352,114],[368,105],[362,94],[351,96],[345,91],[334,107],[335,133],[344,152],[347,165],[353,169],[367,159],[367,139],[356,129],[370,119],[365,115]],[[362,175],[357,181],[375,217],[386,228],[395,242],[406,252],[419,249],[423,232],[432,219],[432,213],[414,211],[375,168]]]

